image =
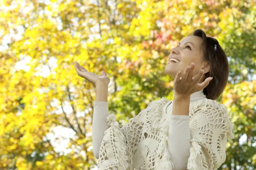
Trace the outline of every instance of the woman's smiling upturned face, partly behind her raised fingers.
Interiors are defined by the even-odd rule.
[[[175,48],[172,48],[172,53],[168,57],[168,64],[166,65],[165,72],[172,77],[176,77],[178,71],[185,71],[187,66],[191,67],[191,63],[195,63],[195,71],[193,77],[203,69],[204,74],[209,71],[209,64],[203,61],[203,54],[200,51],[203,40],[198,36],[189,36],[184,38]],[[172,62],[170,59],[175,57],[179,62]],[[176,60],[177,61],[177,60]],[[181,75],[182,75],[181,74]],[[204,76],[200,82],[204,81]]]

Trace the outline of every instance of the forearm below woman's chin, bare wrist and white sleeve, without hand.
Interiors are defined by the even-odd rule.
[[[190,131],[189,131],[190,96],[174,95],[171,122],[168,136],[168,150],[174,164],[173,170],[186,170],[189,159]]]

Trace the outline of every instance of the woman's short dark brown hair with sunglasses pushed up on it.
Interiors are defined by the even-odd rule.
[[[192,35],[201,37],[203,40],[201,50],[203,51],[203,60],[209,62],[210,71],[205,75],[207,77],[213,77],[209,82],[209,85],[204,88],[204,94],[207,99],[216,100],[225,90],[227,85],[227,79],[229,76],[229,64],[227,56],[221,45],[217,45],[216,51],[214,50],[214,44],[207,40],[205,32],[201,29],[196,29]]]

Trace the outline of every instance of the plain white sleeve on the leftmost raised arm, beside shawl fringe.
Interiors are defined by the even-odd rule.
[[[93,155],[99,159],[99,148],[105,130],[109,128],[108,122],[108,102],[93,102]]]

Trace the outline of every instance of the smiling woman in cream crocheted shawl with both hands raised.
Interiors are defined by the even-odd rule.
[[[96,85],[93,152],[100,170],[213,170],[224,163],[233,126],[215,99],[227,84],[225,52],[197,29],[172,48],[168,61],[174,99],[151,102],[122,128],[108,116],[107,74],[97,76],[75,63],[78,75]]]

